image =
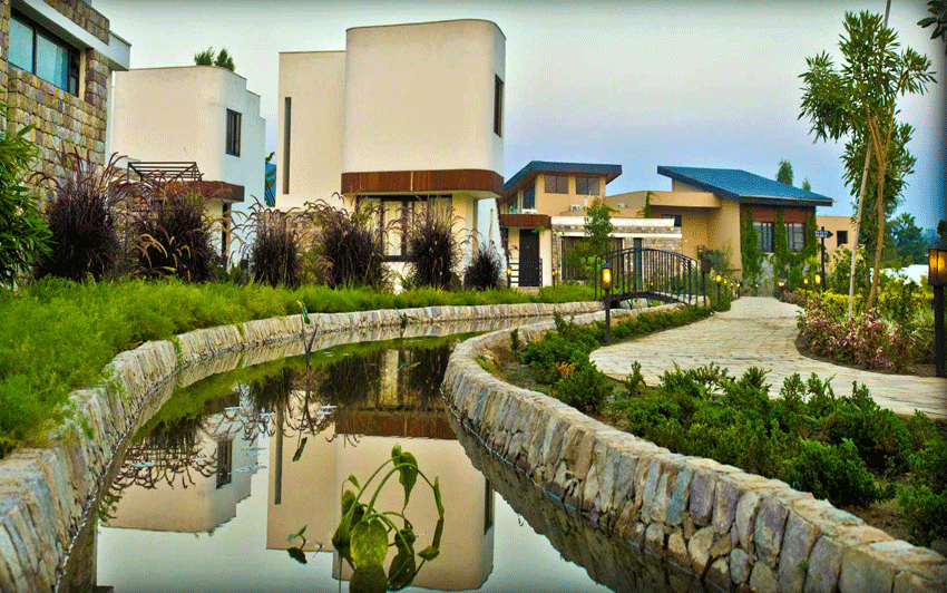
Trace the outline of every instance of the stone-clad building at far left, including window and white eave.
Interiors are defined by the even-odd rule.
[[[128,69],[129,45],[86,0],[0,0],[0,125],[32,124],[37,168],[62,175],[58,154],[79,149],[106,161],[108,87]]]

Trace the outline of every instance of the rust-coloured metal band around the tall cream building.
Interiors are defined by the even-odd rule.
[[[502,176],[486,169],[367,171],[342,174],[343,194],[421,194],[430,192],[491,192],[501,195]]]

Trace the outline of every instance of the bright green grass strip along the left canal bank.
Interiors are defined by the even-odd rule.
[[[74,389],[102,379],[102,368],[123,350],[198,328],[310,312],[332,313],[431,305],[592,301],[587,286],[519,291],[399,294],[369,289],[299,290],[263,284],[185,284],[174,278],[79,284],[56,278],[19,295],[0,290],[0,455],[40,444],[40,427],[62,418]]]

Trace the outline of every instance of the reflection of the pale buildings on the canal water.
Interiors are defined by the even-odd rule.
[[[495,494],[447,421],[438,390],[449,354],[443,346],[339,357],[312,371],[310,390],[302,371],[285,367],[237,386],[196,420],[159,422],[129,447],[106,526],[213,532],[251,494],[260,468],[255,445],[269,438],[269,461],[260,461],[269,466],[266,547],[286,550],[286,536],[307,525],[306,551],[332,553],[333,576],[348,580],[351,570],[340,568],[331,544],[342,484],[349,475],[367,479],[400,443],[427,475],[440,476],[446,507],[440,556],[413,584],[480,587],[494,564]],[[400,509],[402,499],[394,476],[377,507]],[[424,545],[433,536],[435,508],[431,490],[414,488],[406,516]]]

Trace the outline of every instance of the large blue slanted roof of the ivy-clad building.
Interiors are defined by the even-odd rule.
[[[739,168],[657,167],[671,177],[702,192],[711,192],[745,204],[774,206],[831,206],[832,198],[768,179]]]

